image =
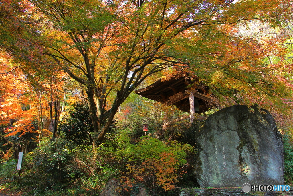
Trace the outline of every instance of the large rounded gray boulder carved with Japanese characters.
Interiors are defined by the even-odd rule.
[[[201,187],[282,185],[284,151],[267,110],[243,105],[210,115],[195,136],[199,148],[194,173]]]

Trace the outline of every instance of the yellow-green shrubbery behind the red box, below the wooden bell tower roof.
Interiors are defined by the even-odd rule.
[[[181,132],[188,127],[189,120],[171,123],[166,130],[162,131],[162,129],[164,122],[171,122],[186,113],[175,106],[166,106],[158,102],[144,101],[142,103],[141,107],[137,106],[137,112],[126,115],[124,119],[118,121],[116,125],[118,133],[125,133],[132,139],[140,138],[144,135],[143,125],[148,124],[147,133],[155,133],[161,140],[182,137]]]

